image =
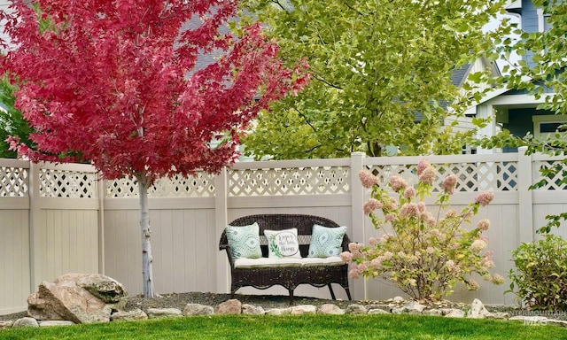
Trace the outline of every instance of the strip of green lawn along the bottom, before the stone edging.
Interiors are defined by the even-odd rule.
[[[0,330],[0,339],[567,339],[567,328],[417,315],[214,315]]]

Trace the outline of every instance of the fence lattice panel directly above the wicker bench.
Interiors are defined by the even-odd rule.
[[[329,195],[350,192],[349,166],[229,170],[229,196]]]

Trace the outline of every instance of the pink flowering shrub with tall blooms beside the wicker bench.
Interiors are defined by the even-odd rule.
[[[439,210],[431,213],[423,197],[431,196],[436,175],[435,168],[423,159],[417,166],[416,188],[399,175],[392,176],[388,186],[398,194],[396,198],[379,186],[376,176],[361,171],[362,185],[372,189],[364,213],[379,235],[371,237],[368,246],[351,243],[349,251],[341,254],[341,259],[351,263],[350,277],[382,277],[416,299],[446,297],[457,282],[478,290],[478,282],[470,274],[495,284],[504,282],[500,274],[489,271],[494,267],[493,251],[485,250],[488,238],[482,233],[490,228],[490,221],[480,220],[472,230],[463,228],[479,207],[490,204],[493,193],[478,194],[474,202],[457,212],[448,202],[457,182],[451,174],[437,196]]]

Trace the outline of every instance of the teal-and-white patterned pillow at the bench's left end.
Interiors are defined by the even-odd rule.
[[[260,227],[254,222],[250,226],[227,226],[227,239],[234,259],[258,259],[262,257],[260,250]]]

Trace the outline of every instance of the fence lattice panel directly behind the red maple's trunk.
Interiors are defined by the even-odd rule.
[[[106,197],[137,197],[135,179],[120,179],[106,184]],[[214,197],[214,174],[160,178],[148,190],[149,197]]]

